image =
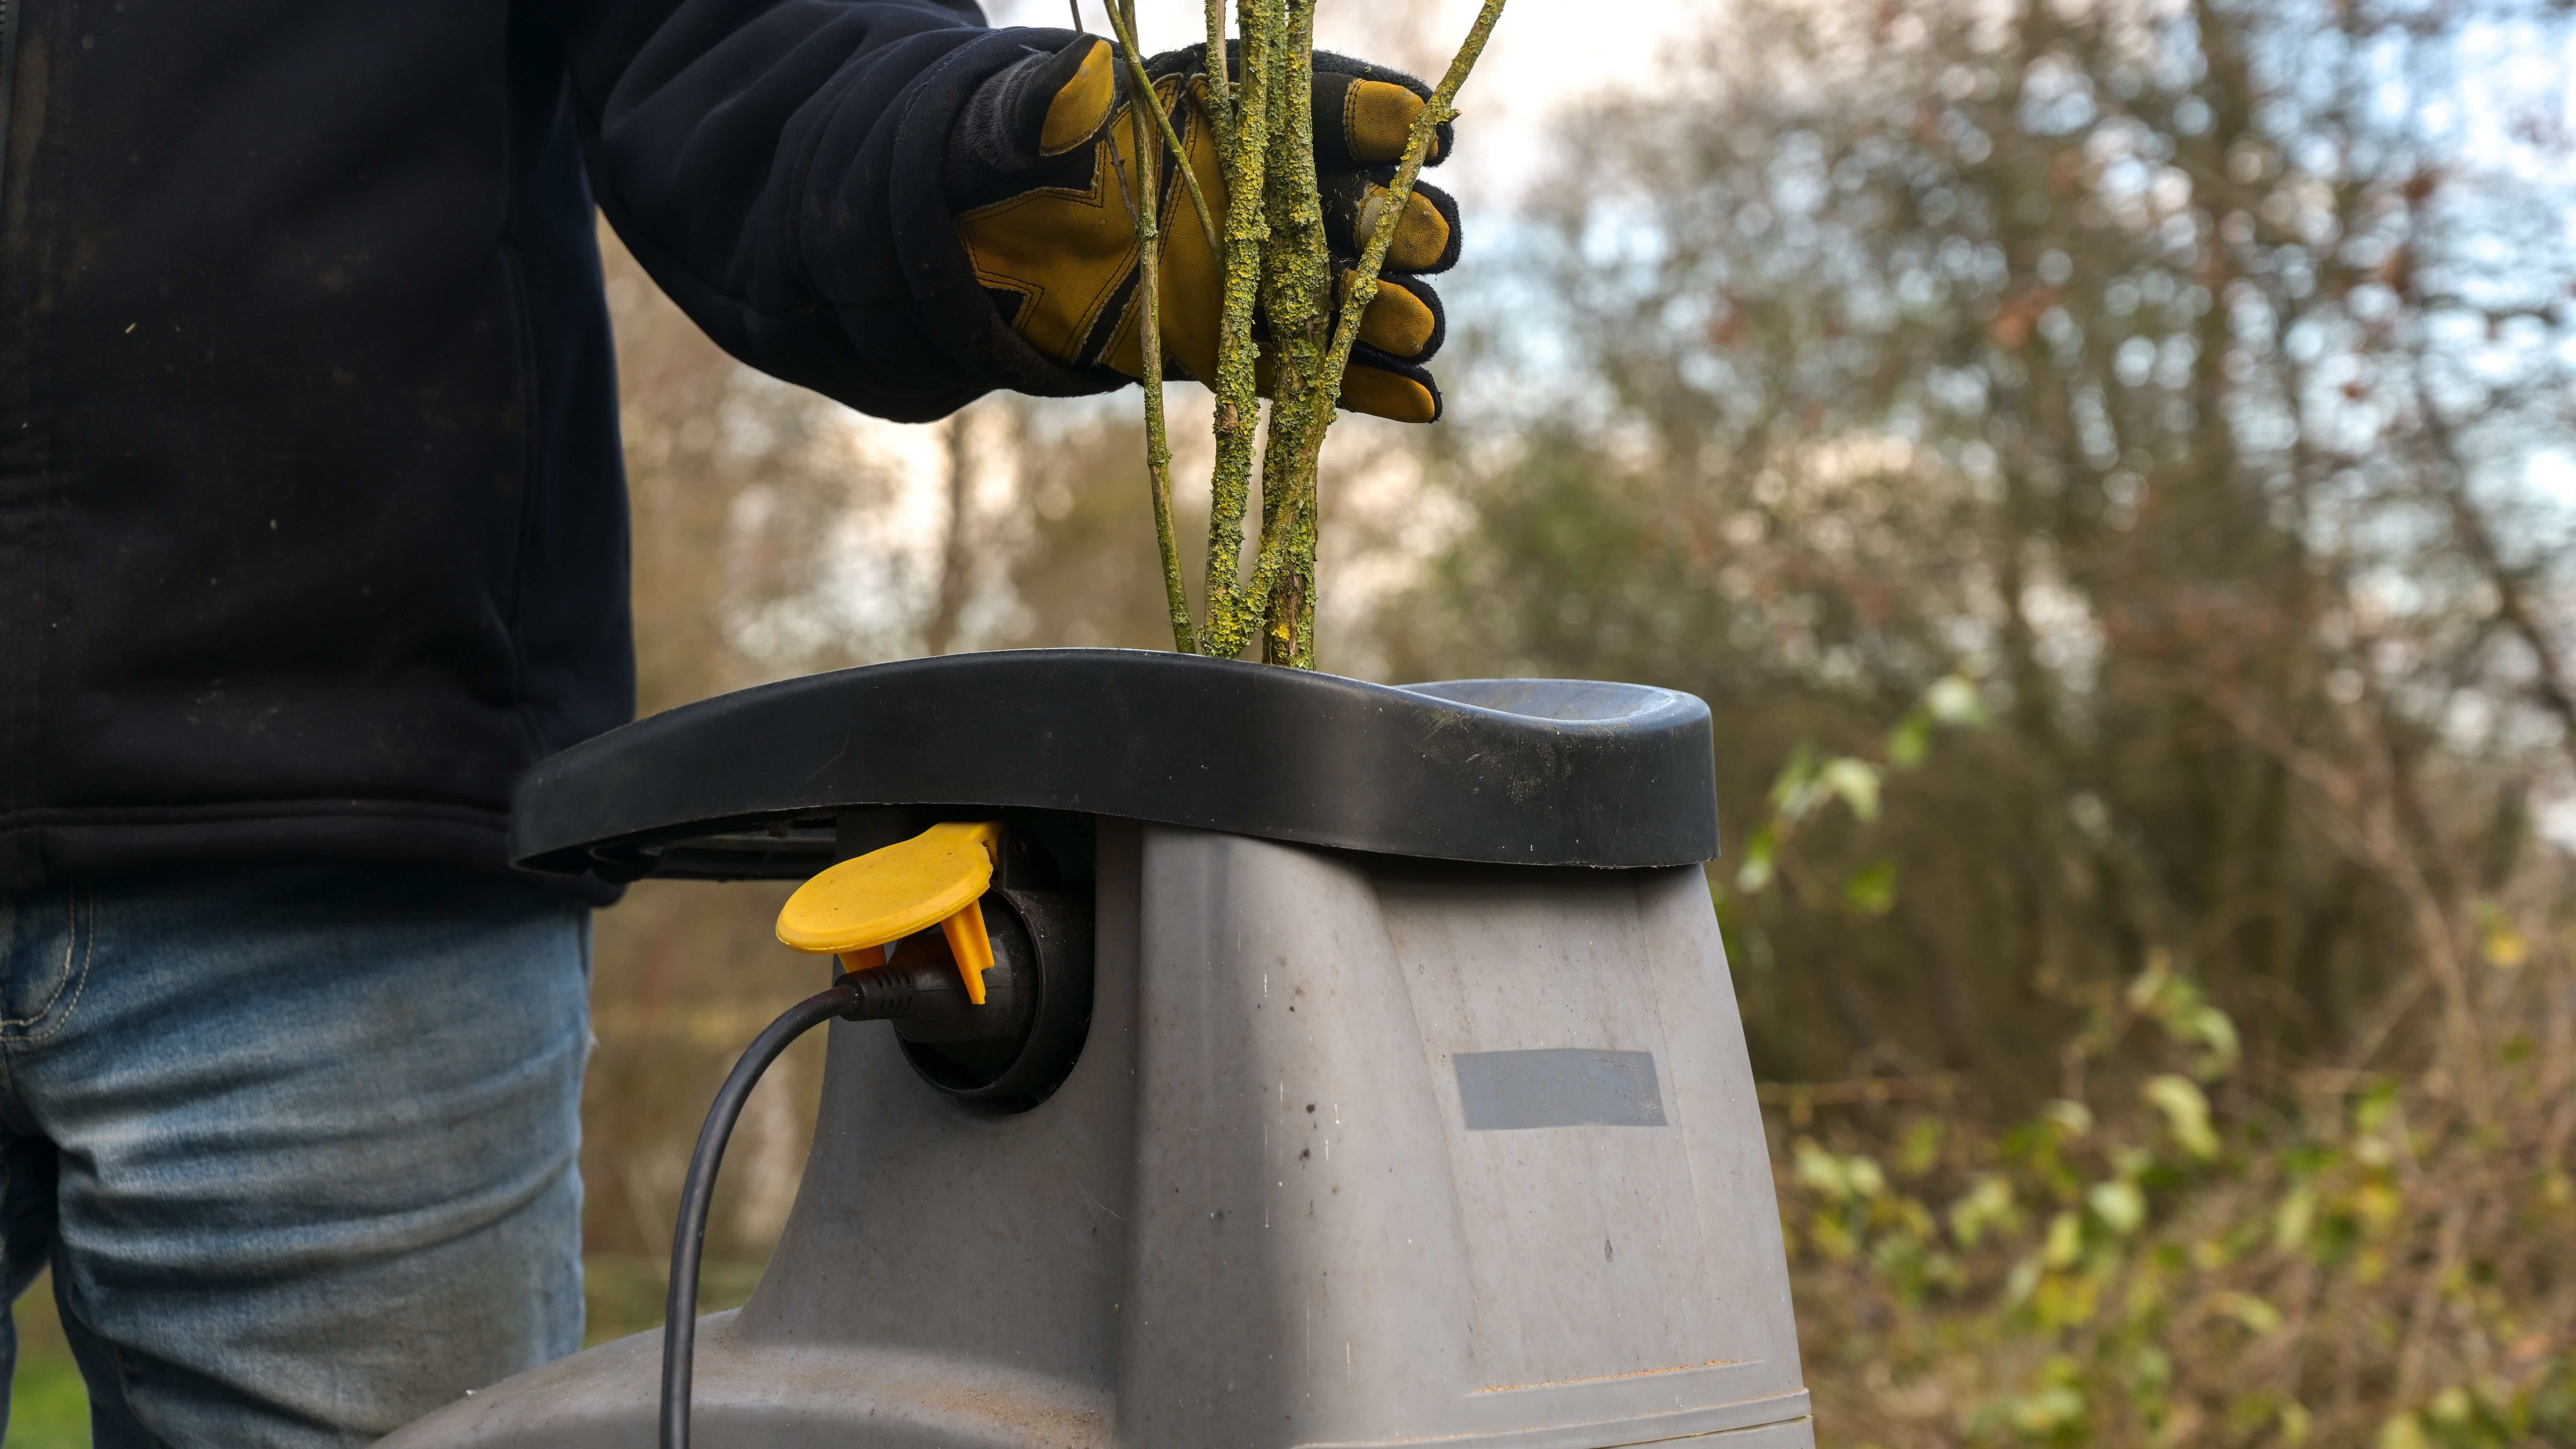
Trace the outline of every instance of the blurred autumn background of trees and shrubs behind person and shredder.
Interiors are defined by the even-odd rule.
[[[1821,1441],[2576,1441],[2568,10],[1677,13],[1574,103],[1468,88],[1453,417],[1334,430],[1327,667],[1716,708]],[[1133,394],[858,420],[605,242],[647,710],[1164,638]],[[811,986],[778,898],[600,916],[598,1336]],[[719,1302],[817,1071],[726,1158]]]

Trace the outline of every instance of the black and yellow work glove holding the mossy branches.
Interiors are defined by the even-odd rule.
[[[1206,46],[1154,57],[1146,72],[1224,237],[1226,178],[1206,113]],[[1136,378],[1144,373],[1139,245],[1128,193],[1121,190],[1121,170],[1128,188],[1139,183],[1131,82],[1133,69],[1100,36],[994,75],[958,116],[943,188],[976,281],[1023,340],[1069,368],[1113,368]],[[1314,57],[1314,162],[1334,296],[1350,288],[1388,198],[1394,162],[1404,157],[1427,98],[1430,88],[1409,75],[1324,51]],[[1450,144],[1450,129],[1440,126],[1427,162],[1445,160]],[[1216,378],[1224,263],[1208,247],[1170,142],[1157,149],[1164,160],[1154,211],[1162,229],[1162,355],[1172,376],[1208,383]],[[1399,422],[1440,417],[1440,389],[1422,363],[1440,350],[1448,324],[1440,296],[1422,275],[1455,260],[1458,203],[1437,188],[1414,185],[1342,373],[1342,407]],[[1257,378],[1267,396],[1267,340]]]

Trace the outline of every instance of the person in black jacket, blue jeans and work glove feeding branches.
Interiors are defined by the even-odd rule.
[[[355,1444],[580,1346],[613,891],[513,875],[507,798],[634,708],[595,211],[863,412],[1092,394],[1136,90],[969,0],[0,0],[0,1269],[98,1444]],[[1311,95],[1347,250],[1427,90]],[[1417,196],[1352,407],[1437,417],[1455,250]]]

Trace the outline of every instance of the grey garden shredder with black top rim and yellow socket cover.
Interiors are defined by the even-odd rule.
[[[781,939],[884,1019],[683,1361],[701,1444],[1814,1444],[1690,695],[922,659],[611,731],[515,829],[806,880]],[[662,1338],[386,1444],[652,1444]]]

